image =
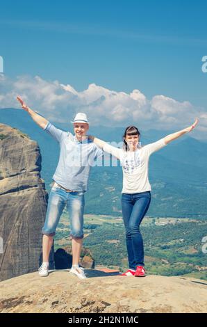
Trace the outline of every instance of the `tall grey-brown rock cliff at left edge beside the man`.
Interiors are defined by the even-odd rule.
[[[0,124],[0,158],[0,280],[5,280],[38,269],[47,192],[35,141]]]

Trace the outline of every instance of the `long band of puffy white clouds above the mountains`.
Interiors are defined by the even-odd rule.
[[[69,122],[78,111],[88,114],[92,124],[125,126],[137,125],[141,129],[182,129],[194,118],[199,125],[194,133],[207,131],[207,113],[188,101],[178,102],[165,95],[152,99],[133,90],[131,93],[108,90],[92,83],[78,92],[59,81],[45,81],[41,77],[19,76],[13,80],[0,76],[0,109],[19,108],[20,95],[35,111],[54,122]],[[195,137],[195,136],[194,136]]]

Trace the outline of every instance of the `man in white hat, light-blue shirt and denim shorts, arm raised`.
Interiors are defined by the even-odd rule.
[[[79,266],[83,244],[84,193],[88,190],[88,177],[94,160],[104,152],[88,139],[88,118],[85,113],[77,113],[74,121],[74,134],[54,127],[47,119],[26,106],[20,97],[18,101],[31,118],[60,145],[60,157],[53,175],[53,186],[49,194],[47,214],[42,228],[42,265],[40,276],[48,276],[49,253],[53,237],[65,205],[69,212],[72,237],[72,269],[70,273],[78,278],[86,278],[84,269]]]

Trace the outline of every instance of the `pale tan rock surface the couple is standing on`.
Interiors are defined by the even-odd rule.
[[[206,312],[207,283],[181,277],[121,277],[86,269],[38,273],[0,282],[0,312]]]

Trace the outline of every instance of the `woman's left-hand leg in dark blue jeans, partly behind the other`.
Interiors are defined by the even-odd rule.
[[[129,269],[135,270],[135,255],[133,251],[133,244],[131,239],[131,230],[129,228],[129,221],[131,212],[133,211],[133,203],[131,201],[131,194],[122,194],[122,216],[124,221],[124,227],[126,231],[126,250],[128,254]]]

